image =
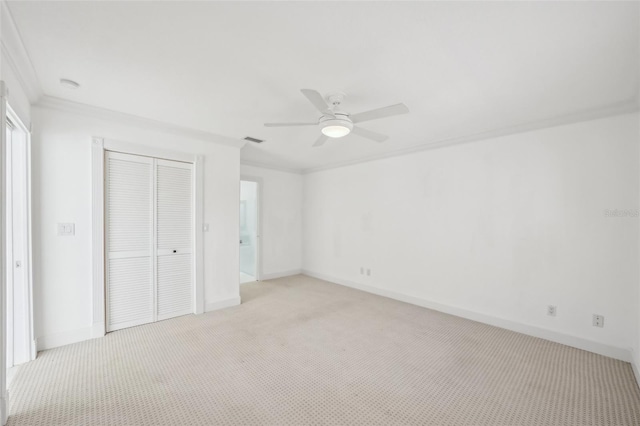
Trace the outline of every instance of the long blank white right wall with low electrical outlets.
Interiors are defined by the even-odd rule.
[[[305,175],[303,268],[628,359],[639,328],[638,218],[605,209],[638,208],[638,119]]]

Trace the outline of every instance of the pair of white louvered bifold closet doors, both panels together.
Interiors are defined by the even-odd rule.
[[[193,312],[192,165],[106,153],[107,331]]]

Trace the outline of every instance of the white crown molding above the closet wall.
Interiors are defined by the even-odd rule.
[[[144,118],[133,114],[127,114],[124,112],[113,111],[106,108],[68,101],[66,99],[55,98],[53,96],[42,96],[40,98],[40,101],[34,104],[34,107],[48,108],[107,121],[115,121],[121,124],[127,124],[143,129],[161,131],[163,133],[168,133],[175,136],[188,137],[191,139],[198,139],[206,142],[214,142],[220,145],[231,146],[234,148],[242,148],[247,143],[244,140],[233,139],[230,137],[217,135],[215,133],[206,132],[204,130],[182,127],[176,124],[165,123],[163,121]]]

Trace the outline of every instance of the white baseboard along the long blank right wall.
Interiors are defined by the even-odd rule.
[[[559,333],[532,325],[522,324],[504,318],[494,317],[491,315],[458,308],[455,306],[443,305],[441,303],[432,302],[419,297],[396,293],[394,291],[373,287],[367,284],[360,284],[349,280],[330,277],[313,271],[303,270],[302,273],[310,277],[318,278],[335,284],[340,284],[346,287],[355,288],[367,293],[388,297],[390,299],[399,300],[401,302],[410,303],[412,305],[422,306],[423,308],[433,309],[434,311],[439,311],[446,314],[455,315],[457,317],[478,321],[484,324],[493,325],[495,327],[527,334],[529,336],[539,337],[541,339],[550,340],[552,342],[561,343],[563,345],[571,346],[589,352],[594,352],[600,355],[608,356],[610,358],[619,359],[621,361],[632,361],[629,350],[618,348],[616,346],[605,345],[603,343],[594,342],[592,340],[583,339],[581,337],[571,336],[568,334]],[[638,377],[637,369],[636,377]]]

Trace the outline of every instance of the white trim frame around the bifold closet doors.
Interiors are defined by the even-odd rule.
[[[152,146],[116,141],[100,137],[92,139],[92,263],[93,263],[93,323],[92,337],[101,337],[106,332],[105,305],[105,152],[141,155],[193,164],[192,175],[192,276],[193,313],[204,313],[204,170],[203,156],[190,153],[166,151]]]

